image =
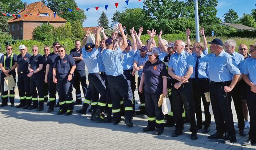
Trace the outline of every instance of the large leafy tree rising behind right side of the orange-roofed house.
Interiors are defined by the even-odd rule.
[[[77,4],[75,0],[41,0],[47,7],[49,7],[53,12],[73,23],[74,21],[80,21],[81,24],[87,18],[83,10],[76,11]],[[60,13],[63,11],[68,11],[68,8],[73,10],[71,12]]]

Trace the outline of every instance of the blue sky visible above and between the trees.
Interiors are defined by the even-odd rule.
[[[34,3],[39,0],[22,0],[22,2],[28,2]],[[113,17],[114,12],[117,11],[123,11],[125,10],[125,7],[128,8],[136,8],[136,7],[143,7],[143,2],[139,2],[138,0],[129,0],[129,6],[125,2],[125,0],[75,0],[78,7],[81,9],[91,8],[91,7],[97,7],[99,6],[98,11],[96,11],[95,8],[91,8],[88,11],[85,10],[85,14],[87,16],[87,19],[85,20],[83,26],[89,27],[89,26],[97,26],[98,22],[97,20],[100,18],[100,14],[102,11],[104,11],[107,16],[109,23],[111,23],[111,18]],[[143,1],[143,0],[142,0]],[[116,8],[114,3],[119,3],[118,7]],[[223,14],[228,12],[229,9],[233,9],[238,13],[239,17],[242,17],[243,13],[251,13],[252,9],[255,9],[255,2],[256,0],[218,0],[218,6],[217,6],[217,17],[223,18]],[[105,5],[111,4],[108,6],[107,11],[105,10]]]

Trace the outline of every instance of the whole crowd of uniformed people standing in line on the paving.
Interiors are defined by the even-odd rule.
[[[249,45],[249,49],[241,44],[236,52],[235,40],[228,39],[223,43],[221,39],[213,39],[207,42],[202,27],[200,34],[203,43],[195,42],[192,45],[188,29],[186,44],[179,39],[162,39],[163,32],[160,31],[157,46],[154,39],[156,30],[147,30],[150,39],[143,44],[140,40],[143,27],[140,27],[138,34],[133,27],[130,29],[131,41],[127,39],[125,27],[120,23],[118,26],[119,30],[109,38],[104,28],[96,28],[93,33],[95,43],[86,43],[90,35],[88,30],[82,43],[76,40],[75,48],[69,55],[59,42],[52,44],[52,53],[50,46],[45,46],[43,56],[38,54],[38,46],[32,46],[31,55],[25,45],[20,45],[17,56],[12,53],[12,46],[7,45],[6,54],[2,54],[0,59],[0,107],[7,106],[8,98],[11,107],[14,107],[14,87],[9,94],[3,87],[4,77],[13,75],[16,81],[17,72],[20,104],[16,108],[43,111],[44,102],[49,101],[47,112],[59,107],[57,115],[71,115],[74,105],[82,104],[81,84],[84,103],[76,112],[86,114],[91,111],[91,120],[117,125],[124,116],[125,124],[133,126],[132,117],[141,114],[143,118],[148,118],[143,132],[155,131],[154,134],[160,135],[165,126],[175,126],[172,137],[181,135],[184,123],[189,122],[191,139],[196,140],[198,130],[210,132],[209,108],[212,107],[217,132],[208,138],[233,143],[236,142],[231,110],[233,99],[239,134],[245,136],[244,128],[250,126],[249,139],[244,145],[255,144],[255,44]],[[211,45],[210,54],[207,43]],[[85,66],[89,73],[88,86]],[[135,111],[136,72],[139,75],[139,111]],[[76,102],[72,98],[73,87],[76,89]],[[59,96],[57,104],[56,92]],[[205,96],[208,92],[211,101]],[[168,96],[171,102],[171,111],[166,116],[158,106],[161,94]],[[90,105],[91,109],[87,110]]]

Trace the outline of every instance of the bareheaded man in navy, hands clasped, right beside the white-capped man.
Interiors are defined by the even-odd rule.
[[[33,55],[29,59],[28,70],[30,77],[29,89],[30,95],[32,96],[32,106],[28,110],[37,109],[36,111],[44,110],[44,77],[43,77],[43,56],[38,54],[38,47],[32,46]],[[36,91],[37,89],[37,91]],[[38,100],[37,100],[38,92]]]

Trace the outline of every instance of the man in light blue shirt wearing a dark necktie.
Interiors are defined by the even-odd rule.
[[[204,104],[204,129],[203,133],[210,131],[211,114],[209,112],[210,102],[206,101],[204,93],[209,92],[210,82],[207,73],[207,66],[210,58],[204,53],[204,45],[201,42],[194,43],[193,57],[195,61],[195,67],[193,71],[193,99],[195,103],[197,129],[202,129],[202,109],[201,109],[201,97]]]

